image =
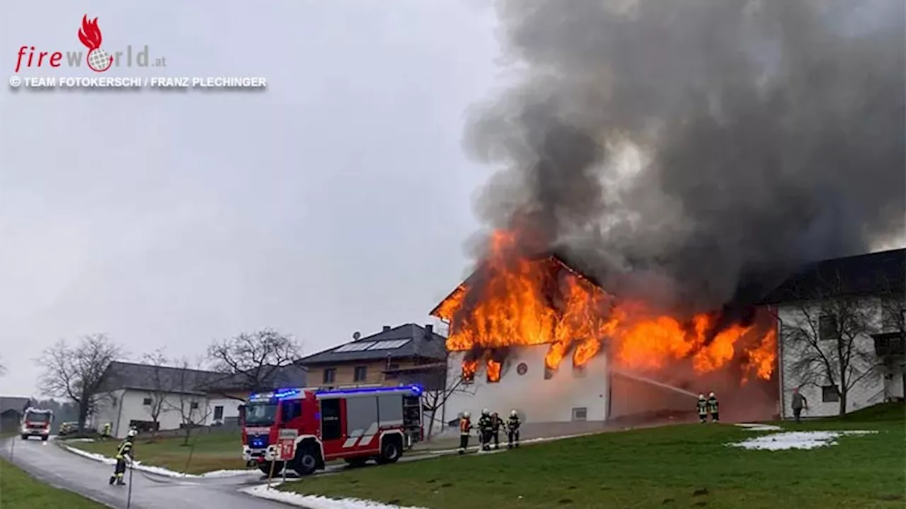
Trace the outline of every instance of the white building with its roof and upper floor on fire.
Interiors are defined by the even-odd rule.
[[[448,416],[516,408],[527,423],[564,423],[689,412],[690,397],[718,390],[711,373],[746,384],[774,370],[776,331],[758,312],[733,322],[659,314],[608,293],[563,254],[526,254],[505,232],[431,314],[449,324],[448,382],[460,387]]]

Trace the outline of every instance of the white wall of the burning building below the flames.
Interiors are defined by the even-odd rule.
[[[549,345],[516,347],[511,350],[503,376],[487,383],[485,366],[478,367],[468,393],[456,392],[447,400],[446,419],[468,411],[473,419],[482,408],[506,417],[516,409],[526,423],[570,422],[573,408],[587,408],[586,420],[603,420],[607,412],[607,362],[603,355],[590,360],[584,377],[573,373],[572,359],[564,359],[552,379],[545,380],[545,354]],[[448,383],[456,383],[466,352],[449,355]],[[516,367],[525,362],[528,370],[519,375]]]

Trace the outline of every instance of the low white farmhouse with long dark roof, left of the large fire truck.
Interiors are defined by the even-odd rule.
[[[104,373],[92,422],[98,430],[125,437],[130,427],[169,430],[190,425],[235,425],[248,396],[240,376],[132,362],[111,362]],[[304,387],[305,371],[295,366],[275,370],[264,389]]]

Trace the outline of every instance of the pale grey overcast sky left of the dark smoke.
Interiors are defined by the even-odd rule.
[[[105,332],[138,359],[274,327],[311,352],[428,322],[467,269],[489,168],[464,112],[498,82],[477,0],[4,2],[3,80],[22,45],[149,45],[166,70],[263,76],[264,93],[0,92],[0,393],[34,359]],[[32,69],[22,76],[89,76]]]

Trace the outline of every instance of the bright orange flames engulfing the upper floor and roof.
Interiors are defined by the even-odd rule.
[[[618,365],[656,371],[689,360],[699,373],[731,362],[742,381],[770,379],[776,331],[769,320],[721,323],[719,312],[689,317],[653,312],[645,303],[621,301],[554,255],[521,255],[516,235],[496,232],[477,274],[434,310],[450,322],[447,347],[468,351],[463,375],[484,362],[487,378],[501,376],[500,352],[515,345],[550,344],[545,367],[557,370],[567,355],[583,367],[609,350]]]

